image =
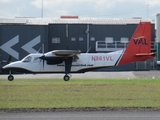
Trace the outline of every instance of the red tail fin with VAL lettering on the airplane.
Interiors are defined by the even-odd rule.
[[[151,23],[140,22],[127,45],[118,65],[153,58],[151,53]]]

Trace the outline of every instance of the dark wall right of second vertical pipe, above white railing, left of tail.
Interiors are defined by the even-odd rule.
[[[95,41],[89,42],[92,47],[91,52],[95,51],[96,41],[105,41],[105,37],[113,37],[114,41],[120,41],[121,37],[131,38],[137,25],[90,25],[90,39],[95,37]]]

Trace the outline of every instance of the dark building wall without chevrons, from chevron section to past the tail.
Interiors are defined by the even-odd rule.
[[[132,37],[137,24],[129,25],[94,25],[94,24],[50,24],[49,25],[49,50],[71,49],[86,52],[90,47],[90,52],[95,53],[96,41],[106,41],[106,37],[112,37],[113,42],[126,37]],[[155,33],[152,24],[151,40],[154,47]],[[57,43],[56,40],[60,39]],[[106,52],[106,51],[101,51]]]

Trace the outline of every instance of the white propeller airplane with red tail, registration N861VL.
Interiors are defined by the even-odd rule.
[[[11,71],[20,73],[64,73],[64,81],[70,73],[119,66],[137,61],[145,61],[155,56],[151,52],[151,23],[140,22],[127,47],[109,53],[81,53],[79,50],[53,50],[47,53],[32,53],[20,61],[12,62],[4,69],[10,71],[8,80],[14,79]]]

